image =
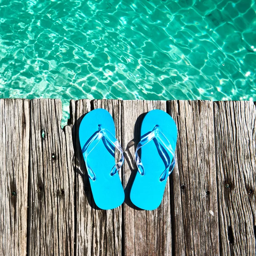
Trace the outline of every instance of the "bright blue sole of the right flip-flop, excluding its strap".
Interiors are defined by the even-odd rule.
[[[153,110],[148,112],[141,125],[141,137],[151,132],[158,125],[160,130],[170,141],[175,149],[177,142],[177,126],[172,117],[164,111]],[[172,154],[167,152],[172,161]],[[141,162],[145,174],[137,172],[131,188],[130,198],[134,205],[145,210],[154,210],[160,206],[166,187],[167,177],[160,181],[160,176],[165,170],[165,164],[154,140],[141,148]]]

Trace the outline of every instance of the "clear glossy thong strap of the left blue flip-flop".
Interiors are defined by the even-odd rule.
[[[87,168],[87,172],[88,172],[88,176],[90,177],[91,180],[96,180],[96,175],[94,174],[93,170],[91,169],[89,163],[87,162],[87,157],[88,155],[93,151],[93,149],[96,147],[96,145],[99,143],[99,141],[105,137],[105,139],[108,140],[108,142],[110,142],[113,146],[115,146],[115,148],[117,148],[122,157],[121,159],[118,161],[118,163],[116,163],[111,172],[110,175],[113,176],[115,175],[119,169],[121,168],[121,166],[124,163],[124,155],[123,155],[123,150],[122,147],[119,143],[119,141],[113,136],[113,134],[111,134],[110,131],[108,131],[107,129],[101,127],[101,125],[99,125],[99,131],[96,132],[96,134],[89,140],[87,140],[87,142],[84,144],[83,148],[82,148],[82,153],[84,155],[84,161],[86,164],[86,168]],[[107,144],[107,143],[106,143]],[[113,151],[112,148],[109,147],[109,145],[106,145],[111,151]],[[114,151],[113,151],[114,153]]]

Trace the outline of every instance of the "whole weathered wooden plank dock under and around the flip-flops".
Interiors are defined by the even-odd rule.
[[[93,202],[78,138],[95,108],[111,113],[125,150],[125,203],[108,211]],[[156,108],[177,124],[177,164],[160,207],[144,211],[129,200],[134,148]],[[255,256],[253,102],[83,99],[64,129],[61,116],[60,100],[0,99],[2,256]]]

